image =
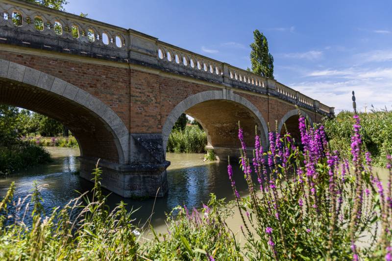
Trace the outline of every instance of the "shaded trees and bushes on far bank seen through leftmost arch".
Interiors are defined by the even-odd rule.
[[[40,138],[60,135],[61,123],[38,113],[14,106],[0,105],[0,174],[10,174],[50,161],[42,146],[77,147],[74,137]],[[67,130],[68,132],[68,130]]]

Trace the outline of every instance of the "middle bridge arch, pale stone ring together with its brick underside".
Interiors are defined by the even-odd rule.
[[[182,113],[200,122],[207,134],[207,148],[214,149],[220,160],[226,160],[227,155],[239,156],[239,120],[249,148],[254,145],[255,126],[258,127],[263,147],[268,146],[267,123],[250,101],[228,90],[206,91],[184,99],[167,117],[162,128],[165,153],[172,127]]]

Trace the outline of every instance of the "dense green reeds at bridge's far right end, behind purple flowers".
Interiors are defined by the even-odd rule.
[[[373,165],[387,165],[387,150],[392,149],[392,112],[371,111],[359,113],[361,118],[361,136],[367,151],[370,152]],[[350,153],[353,113],[343,111],[334,119],[324,121],[325,132],[332,150],[339,151],[344,159],[351,160]]]

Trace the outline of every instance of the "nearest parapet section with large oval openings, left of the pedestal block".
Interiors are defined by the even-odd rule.
[[[1,0],[0,12],[3,43],[127,61],[124,28],[21,0]]]

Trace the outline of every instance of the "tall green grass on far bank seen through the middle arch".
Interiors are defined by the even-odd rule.
[[[175,153],[204,153],[207,135],[197,125],[186,126],[184,130],[172,130],[167,151]]]

